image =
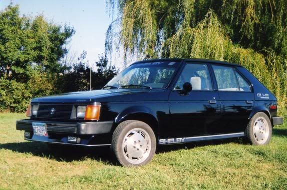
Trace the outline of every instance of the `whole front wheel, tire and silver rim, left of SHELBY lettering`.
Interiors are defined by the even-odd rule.
[[[143,166],[148,164],[155,154],[156,137],[148,124],[137,120],[127,120],[120,123],[113,132],[111,151],[124,167]],[[140,156],[133,157],[134,154]]]

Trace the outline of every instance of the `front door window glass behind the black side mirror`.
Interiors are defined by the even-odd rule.
[[[185,82],[191,83],[192,90],[212,90],[210,74],[206,64],[186,64],[174,89],[183,90]]]

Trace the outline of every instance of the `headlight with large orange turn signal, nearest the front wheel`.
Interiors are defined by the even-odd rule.
[[[100,117],[100,105],[88,105],[77,107],[77,118],[85,120],[98,120]]]

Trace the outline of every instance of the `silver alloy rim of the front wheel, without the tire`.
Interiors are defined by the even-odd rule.
[[[151,151],[151,138],[141,128],[130,130],[124,137],[122,143],[124,157],[132,164],[144,162]]]

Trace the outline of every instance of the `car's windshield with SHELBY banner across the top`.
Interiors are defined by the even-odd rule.
[[[110,80],[107,88],[165,88],[179,62],[160,61],[136,63]],[[105,87],[104,87],[105,88]]]

